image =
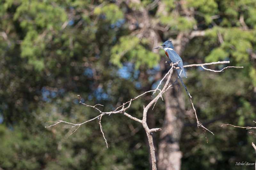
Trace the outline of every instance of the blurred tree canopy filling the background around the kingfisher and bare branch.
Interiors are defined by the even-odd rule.
[[[188,37],[180,53],[185,64],[230,60],[229,66],[244,66],[224,73],[187,69],[184,81],[199,119],[215,135],[206,134],[206,144],[186,99],[182,169],[240,169],[236,162],[255,162],[256,137],[220,125],[255,126],[256,1],[0,2],[0,168],[148,169],[146,135],[123,115],[102,118],[109,149],[97,121],[71,136],[70,126],[45,126],[95,117],[95,110],[79,104],[78,94],[110,111],[154,88],[164,52],[152,47],[167,39],[174,47],[182,44],[175,41],[181,33]],[[142,117],[150,99],[134,101],[131,115]],[[153,112],[161,127],[164,102]]]

